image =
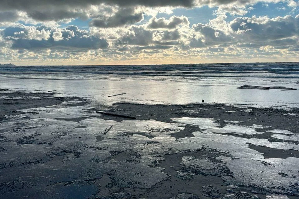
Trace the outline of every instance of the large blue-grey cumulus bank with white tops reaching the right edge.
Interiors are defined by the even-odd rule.
[[[215,23],[212,23],[215,24]],[[209,24],[194,24],[194,33],[189,36],[186,45],[191,48],[238,47],[259,49],[272,46],[274,49],[296,49],[299,41],[299,15],[276,18],[237,17],[221,25],[219,29]],[[209,48],[210,49],[210,48]]]

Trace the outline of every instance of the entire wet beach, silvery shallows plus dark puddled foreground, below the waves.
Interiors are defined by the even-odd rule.
[[[1,71],[1,198],[299,198],[298,90],[236,89],[296,72],[35,69]]]

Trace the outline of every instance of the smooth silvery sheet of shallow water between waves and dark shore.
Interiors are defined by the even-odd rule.
[[[289,81],[289,79],[287,79]],[[256,107],[287,106],[299,107],[299,90],[251,90],[236,89],[251,82],[235,81],[216,84],[212,80],[204,82],[173,82],[148,80],[98,80],[98,79],[20,79],[0,77],[0,88],[10,90],[41,90],[61,92],[61,95],[93,98],[101,104],[130,102],[138,104],[190,104],[223,103],[250,104]],[[244,81],[244,80],[243,80]],[[248,80],[249,81],[249,80]],[[260,86],[290,86],[287,82]],[[296,88],[297,84],[293,84]],[[299,86],[297,86],[299,88]],[[126,93],[108,97],[111,95]],[[1,96],[3,97],[3,96]]]

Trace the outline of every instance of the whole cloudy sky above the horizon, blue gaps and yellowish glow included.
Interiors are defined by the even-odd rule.
[[[299,62],[298,0],[1,0],[0,63]]]

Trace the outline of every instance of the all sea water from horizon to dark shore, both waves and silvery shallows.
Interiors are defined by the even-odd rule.
[[[1,66],[0,87],[57,90],[113,104],[224,103],[299,107],[299,90],[243,90],[242,85],[299,89],[299,63],[120,66]],[[115,97],[107,97],[126,93]]]

